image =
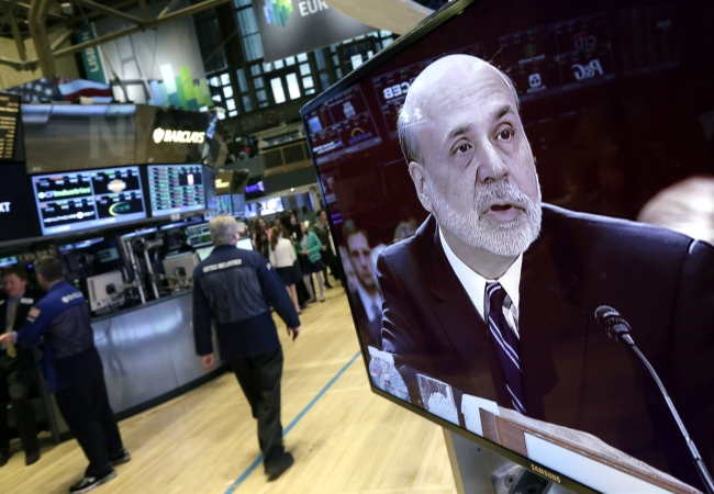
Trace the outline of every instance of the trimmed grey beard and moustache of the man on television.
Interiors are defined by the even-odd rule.
[[[432,212],[439,226],[455,235],[466,245],[488,250],[498,256],[513,257],[525,252],[540,233],[540,197],[536,201],[511,183],[502,180],[493,186],[481,186],[476,203],[468,213],[456,211],[442,192],[428,183]],[[539,194],[538,194],[539,195]],[[491,216],[481,216],[493,203],[505,201],[525,210],[525,214],[509,223]]]

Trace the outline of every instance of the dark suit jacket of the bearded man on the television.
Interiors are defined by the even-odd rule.
[[[446,259],[433,216],[382,252],[378,280],[384,350],[394,353],[412,403],[423,406],[421,372],[450,384],[459,411],[464,393],[512,407],[486,323]],[[528,415],[593,434],[700,485],[651,378],[632,350],[599,327],[594,310],[612,305],[631,323],[707,456],[714,444],[714,248],[661,228],[544,205],[520,291]]]

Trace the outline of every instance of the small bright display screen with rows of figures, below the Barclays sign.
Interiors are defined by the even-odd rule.
[[[205,209],[202,165],[149,165],[146,168],[153,217]]]

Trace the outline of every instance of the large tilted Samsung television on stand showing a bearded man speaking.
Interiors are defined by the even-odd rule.
[[[714,492],[713,239],[640,220],[711,229],[676,192],[714,170],[713,21],[455,0],[301,110],[371,390],[460,493]]]

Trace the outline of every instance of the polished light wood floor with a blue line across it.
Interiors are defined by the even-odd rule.
[[[442,429],[369,391],[344,291],[304,311],[285,350],[282,424],[295,464],[267,482],[255,420],[235,378],[219,379],[120,423],[133,460],[96,493],[456,493]],[[198,358],[198,357],[197,357]],[[352,361],[352,363],[350,363]],[[147,375],[146,379],[150,379]],[[0,493],[66,493],[86,459],[75,440],[43,435],[31,467],[18,451]]]

